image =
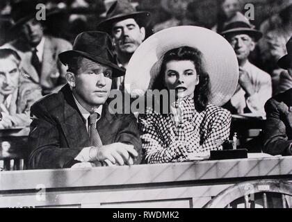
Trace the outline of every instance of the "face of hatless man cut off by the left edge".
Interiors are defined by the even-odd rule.
[[[0,94],[13,94],[19,83],[19,69],[12,57],[0,59]]]

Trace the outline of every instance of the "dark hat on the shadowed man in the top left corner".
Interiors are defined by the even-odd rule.
[[[31,19],[35,19],[35,16],[38,12],[36,6],[38,5],[38,1],[18,1],[13,3],[11,9],[11,18],[13,20],[13,26],[11,27],[11,31],[16,31],[17,28],[26,24]],[[46,10],[46,19],[52,15],[56,15],[57,13],[63,12],[58,8]],[[44,22],[40,20],[40,22]]]

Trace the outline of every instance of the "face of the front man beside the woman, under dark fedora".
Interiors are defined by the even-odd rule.
[[[111,90],[113,69],[82,58],[77,74],[74,74],[72,92],[87,110],[105,103]],[[90,111],[90,110],[88,110]]]

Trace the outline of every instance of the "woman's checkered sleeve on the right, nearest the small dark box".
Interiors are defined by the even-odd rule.
[[[232,115],[228,110],[220,108],[211,114],[208,133],[200,146],[200,151],[222,150],[222,143],[228,139]]]

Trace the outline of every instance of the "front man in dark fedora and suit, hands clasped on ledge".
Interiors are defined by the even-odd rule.
[[[124,75],[111,46],[108,34],[85,32],[59,54],[68,83],[31,107],[29,168],[140,163],[136,118],[114,113],[108,101],[112,78]]]

